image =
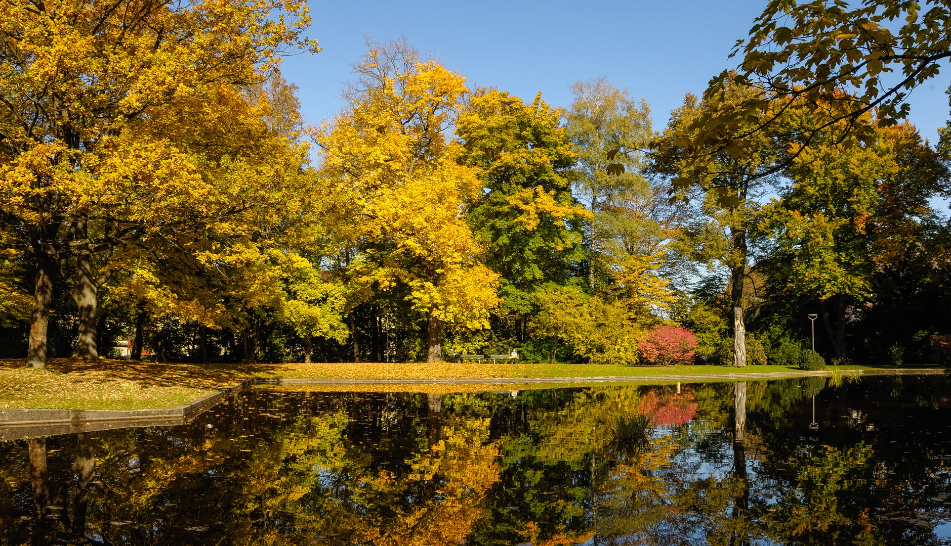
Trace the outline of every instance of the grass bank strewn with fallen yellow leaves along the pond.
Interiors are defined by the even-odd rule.
[[[833,367],[830,367],[834,369]],[[851,366],[838,369],[863,369]],[[301,379],[463,379],[525,377],[656,377],[798,371],[796,367],[630,367],[548,364],[158,364],[128,360],[50,359],[46,369],[24,367],[22,359],[0,360],[0,407],[59,409],[151,409],[197,400],[252,377]],[[500,382],[501,383],[501,382]],[[512,383],[512,382],[506,382]],[[579,385],[583,384],[579,382]],[[505,386],[509,388],[511,385]],[[353,389],[355,387],[349,387]],[[358,386],[373,389],[372,386]],[[392,390],[393,387],[389,387]],[[402,387],[409,389],[411,387]],[[435,387],[434,387],[435,388]],[[445,388],[445,387],[440,387]],[[493,390],[497,385],[473,386]],[[340,389],[340,386],[333,387]],[[426,392],[413,386],[412,390]],[[438,390],[438,389],[437,389]],[[458,387],[453,389],[458,391]],[[469,390],[467,388],[467,390]]]

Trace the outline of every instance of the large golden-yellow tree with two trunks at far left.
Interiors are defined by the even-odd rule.
[[[282,13],[280,19],[275,13]],[[12,2],[0,15],[3,66],[0,195],[4,222],[29,234],[36,269],[30,366],[46,359],[51,270],[63,265],[79,310],[82,356],[97,355],[97,254],[142,236],[146,225],[203,198],[204,173],[161,122],[184,103],[220,104],[228,85],[262,79],[282,47],[302,38],[300,3],[263,1]],[[196,113],[196,112],[191,112]],[[212,116],[214,111],[206,112]],[[214,118],[176,120],[214,125]],[[194,125],[192,125],[194,126]],[[193,186],[196,186],[193,189]],[[150,215],[160,218],[149,224]],[[164,221],[163,221],[164,220]],[[183,221],[184,220],[184,221]],[[161,223],[159,223],[161,222]]]

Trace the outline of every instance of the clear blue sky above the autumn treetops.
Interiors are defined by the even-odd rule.
[[[700,94],[711,76],[736,65],[728,53],[765,3],[312,0],[308,34],[323,50],[286,58],[281,69],[299,86],[307,121],[318,124],[343,106],[340,89],[366,51],[364,34],[378,42],[405,36],[471,86],[525,101],[541,91],[549,104],[568,106],[574,82],[606,76],[644,98],[661,129],[685,93]],[[911,96],[911,122],[931,141],[948,119],[947,84],[942,75]]]

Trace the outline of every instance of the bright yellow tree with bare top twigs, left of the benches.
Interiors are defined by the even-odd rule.
[[[478,196],[478,171],[448,134],[465,80],[405,44],[372,48],[355,68],[350,108],[317,136],[325,217],[341,222],[352,301],[402,290],[426,318],[437,362],[442,329],[486,328],[496,302],[497,275],[460,215]]]

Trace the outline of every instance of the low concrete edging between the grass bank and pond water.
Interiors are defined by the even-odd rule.
[[[943,368],[895,368],[843,370],[844,376],[858,375],[941,375]],[[365,386],[365,385],[559,385],[670,383],[708,380],[763,380],[810,376],[829,376],[832,371],[774,371],[758,373],[697,373],[678,375],[596,376],[596,377],[493,377],[448,379],[302,379],[256,377],[199,400],[175,407],[157,409],[31,409],[0,408],[0,441],[37,436],[55,436],[92,430],[135,426],[185,424],[230,394],[250,386]]]

